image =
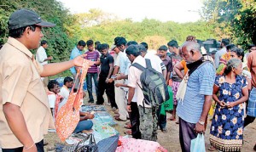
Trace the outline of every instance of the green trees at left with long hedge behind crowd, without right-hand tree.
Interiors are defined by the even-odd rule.
[[[114,37],[125,37],[127,41],[148,42],[151,49],[166,45],[172,39],[179,44],[189,35],[197,39],[219,39],[215,25],[207,21],[179,24],[173,21],[144,19],[134,22],[131,19],[120,20],[113,14],[100,9],[90,9],[88,13],[71,14],[56,0],[2,0],[0,4],[0,43],[8,38],[8,19],[18,8],[29,8],[37,12],[43,20],[56,24],[53,28],[44,28],[44,40],[49,42],[47,53],[53,56],[53,62],[69,59],[70,50],[79,40],[107,42],[113,44]],[[35,50],[32,50],[35,53]],[[68,72],[68,71],[66,71]],[[63,75],[63,74],[61,74]],[[67,73],[64,73],[67,75]]]

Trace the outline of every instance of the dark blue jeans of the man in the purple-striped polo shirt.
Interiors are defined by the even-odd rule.
[[[89,99],[90,99],[91,103],[94,102],[94,99],[93,99],[93,96],[92,96],[92,79],[93,79],[94,84],[95,84],[96,96],[97,96],[97,93],[98,93],[97,77],[98,77],[98,73],[87,73],[87,76],[86,76],[87,91],[88,91]]]

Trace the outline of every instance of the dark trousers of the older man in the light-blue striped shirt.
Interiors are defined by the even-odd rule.
[[[196,138],[195,124],[179,118],[179,143],[183,152],[190,151],[191,140]]]

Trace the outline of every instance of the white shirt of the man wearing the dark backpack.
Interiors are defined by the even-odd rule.
[[[151,62],[151,66],[154,70],[157,70],[161,72],[161,67],[160,64],[154,64],[154,59],[150,59]],[[142,65],[143,67],[146,67],[146,60],[143,59],[143,57],[141,55],[137,56],[136,59],[134,59],[134,61],[132,62],[132,64],[139,64]],[[137,88],[136,92],[137,92],[137,104],[143,106],[143,99],[144,99],[144,95],[143,95],[143,90],[140,88],[142,87],[142,83],[140,80],[140,76],[142,75],[143,71],[137,69],[134,66],[130,66],[129,68],[129,74],[128,74],[128,86],[129,87],[134,87]],[[140,85],[140,87],[138,86]],[[150,108],[151,106],[144,103],[145,107]]]

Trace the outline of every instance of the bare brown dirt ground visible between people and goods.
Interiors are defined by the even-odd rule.
[[[88,96],[87,96],[88,97]],[[96,99],[96,98],[95,98]],[[89,99],[84,98],[84,104],[86,104]],[[105,104],[108,112],[113,115],[113,111],[111,110],[110,105]],[[170,117],[171,114],[167,113],[167,117]],[[206,149],[210,146],[209,142],[209,128],[211,126],[211,119],[212,116],[208,116],[208,122],[207,122],[207,132],[205,134],[205,142],[206,142]],[[125,136],[125,122],[124,121],[117,121],[118,126],[115,127],[117,131],[119,131],[120,135]],[[178,125],[175,123],[175,121],[167,121],[167,131],[166,133],[158,131],[158,142],[160,145],[162,145],[164,148],[166,148],[170,152],[179,152],[180,144],[179,144],[179,138],[178,138]],[[252,152],[253,146],[256,143],[256,121],[254,121],[252,124],[248,125],[244,130],[244,144],[242,146],[242,152]],[[55,143],[61,143],[59,138],[57,137],[55,132],[49,132],[49,134],[45,135],[44,140],[47,141],[49,144],[45,146],[45,151],[52,151],[49,150],[54,147]],[[209,151],[209,150],[207,150]]]

